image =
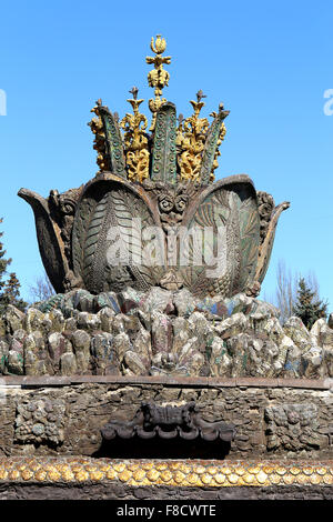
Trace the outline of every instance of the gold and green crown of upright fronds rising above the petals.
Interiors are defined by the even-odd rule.
[[[154,57],[147,57],[147,63],[154,69],[148,74],[149,86],[154,88],[154,98],[149,100],[152,112],[150,135],[145,132],[148,120],[139,107],[144,101],[138,99],[139,89],[130,90],[133,113],[127,113],[119,121],[118,113],[111,113],[102,101],[98,100],[92,112],[97,114],[89,123],[95,135],[94,149],[98,151],[98,172],[110,171],[133,182],[143,183],[150,179],[154,182],[175,184],[182,181],[198,182],[202,185],[214,180],[218,168],[219,145],[225,135],[224,119],[229,111],[219,107],[212,112],[213,123],[210,128],[206,118],[200,118],[205,98],[202,90],[196,93],[196,101],[191,100],[193,114],[186,119],[180,114],[176,124],[175,107],[162,98],[163,88],[168,86],[170,74],[164,64],[171,63],[171,57],[163,57],[167,43],[161,36],[151,40]],[[124,131],[121,137],[120,129]]]

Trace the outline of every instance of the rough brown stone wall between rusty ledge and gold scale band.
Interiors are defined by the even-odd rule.
[[[112,377],[78,377],[71,383],[69,378],[59,377],[2,378],[0,455],[110,456],[108,451],[118,448],[117,458],[145,458],[145,452],[155,444],[158,454],[147,458],[159,458],[169,443],[168,458],[172,458],[170,452],[176,448],[176,458],[195,459],[333,456],[333,395],[325,381],[303,380],[303,388],[301,380],[286,381],[285,387],[283,380],[260,379],[240,379],[240,383],[204,378],[201,383],[198,378],[169,383],[160,378],[121,378],[121,381],[115,382]],[[113,439],[103,449],[104,424],[111,419],[131,421],[142,401],[162,406],[195,401],[205,421],[234,424],[235,439],[228,448],[221,440],[204,445],[201,440],[163,441],[158,436],[148,441],[125,440],[119,446]],[[131,454],[135,449],[139,455]]]

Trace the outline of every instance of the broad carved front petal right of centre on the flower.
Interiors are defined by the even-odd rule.
[[[244,291],[253,280],[260,244],[256,193],[250,178],[232,175],[203,190],[189,208],[183,225],[180,254],[184,285],[200,297]],[[199,241],[192,241],[191,234]]]

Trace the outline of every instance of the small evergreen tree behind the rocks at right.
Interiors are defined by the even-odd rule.
[[[319,299],[317,293],[305,283],[304,278],[299,281],[297,300],[293,313],[302,319],[310,330],[317,319],[326,318],[327,302]]]

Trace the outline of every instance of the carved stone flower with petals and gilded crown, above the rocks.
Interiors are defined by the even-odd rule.
[[[201,117],[205,96],[191,100],[186,119],[162,97],[171,57],[161,36],[151,40],[148,74],[154,98],[150,133],[140,112],[138,88],[132,112],[119,120],[97,101],[89,126],[99,172],[85,185],[48,199],[21,189],[32,207],[41,257],[57,292],[92,293],[127,285],[149,290],[189,289],[194,295],[258,294],[287,202],[256,192],[245,174],[214,181],[225,135],[221,103],[210,124]]]

